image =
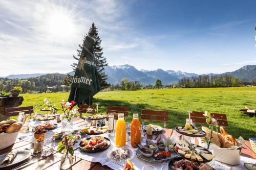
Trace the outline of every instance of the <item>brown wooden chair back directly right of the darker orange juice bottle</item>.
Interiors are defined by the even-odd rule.
[[[158,122],[164,122],[164,128],[166,126],[166,122],[168,121],[168,111],[163,110],[141,110],[141,119],[144,120],[155,120]]]

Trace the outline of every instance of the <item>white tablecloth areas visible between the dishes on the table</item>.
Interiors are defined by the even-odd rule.
[[[33,126],[38,125],[38,124],[40,124],[40,123],[33,122]],[[60,131],[61,131],[61,124],[58,124],[58,127],[56,129],[48,131],[48,133],[46,135],[46,138],[50,138],[52,136],[52,134],[54,134],[56,132],[60,132]],[[102,134],[101,136],[107,137],[107,133]],[[18,137],[21,137],[23,140],[28,141],[28,142],[32,142],[33,143],[33,141],[34,141],[33,132],[19,133]],[[90,137],[90,135],[84,136],[83,138],[88,138],[88,137]],[[113,161],[113,160],[111,160],[110,158],[107,157],[107,154],[109,152],[111,152],[115,148],[114,138],[111,137],[110,140],[112,142],[111,147],[106,149],[105,151],[97,152],[97,153],[82,152],[79,149],[79,142],[78,142],[73,147],[74,150],[75,150],[74,156],[76,156],[78,158],[81,158],[81,159],[84,159],[84,160],[87,160],[87,161],[90,161],[90,162],[99,162],[102,165],[107,165],[107,166],[111,167],[112,169],[122,169],[122,166],[124,164],[126,164],[126,161],[124,161],[124,162],[116,162],[116,161]],[[165,170],[165,169],[167,170],[168,169],[168,161],[167,162],[160,162],[160,163],[146,162],[146,161],[140,159],[136,155],[136,150],[137,149],[134,149],[134,148],[131,147],[131,142],[130,141],[126,142],[126,146],[129,147],[129,149],[131,149],[133,152],[135,152],[135,156],[134,156],[134,158],[132,158],[132,162],[134,164],[135,169],[143,169],[145,165],[152,165],[157,170],[162,170],[162,169],[163,170]],[[58,142],[56,142],[55,150],[57,150],[57,147],[58,147]],[[175,153],[173,153],[173,154],[175,154]],[[243,166],[243,164],[245,162],[247,162],[247,163],[256,163],[256,160],[255,159],[251,159],[251,158],[247,158],[247,157],[244,157],[244,156],[241,156],[240,165],[237,165],[237,166],[230,166],[230,165],[218,162],[218,161],[211,161],[211,162],[209,162],[209,164],[212,167],[214,167],[216,170],[219,170],[219,169],[228,170],[228,169],[230,169],[230,167],[238,167],[240,169],[245,169],[244,166]],[[154,169],[154,168],[146,166],[145,169],[146,170],[151,170],[151,169]]]

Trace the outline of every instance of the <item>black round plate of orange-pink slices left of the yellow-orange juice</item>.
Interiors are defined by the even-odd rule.
[[[108,149],[111,145],[111,141],[107,137],[89,137],[82,139],[79,144],[79,148],[83,152],[100,152]]]

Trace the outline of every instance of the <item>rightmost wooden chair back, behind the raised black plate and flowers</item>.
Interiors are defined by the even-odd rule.
[[[190,113],[190,118],[192,119],[193,123],[207,124],[206,117],[203,114],[204,112],[193,111]],[[219,126],[228,126],[226,114],[210,113],[210,115],[215,119],[218,119]]]

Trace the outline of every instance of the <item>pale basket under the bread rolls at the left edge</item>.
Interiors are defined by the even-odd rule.
[[[0,150],[10,147],[10,145],[15,143],[18,132],[19,131],[14,133],[0,133]]]

